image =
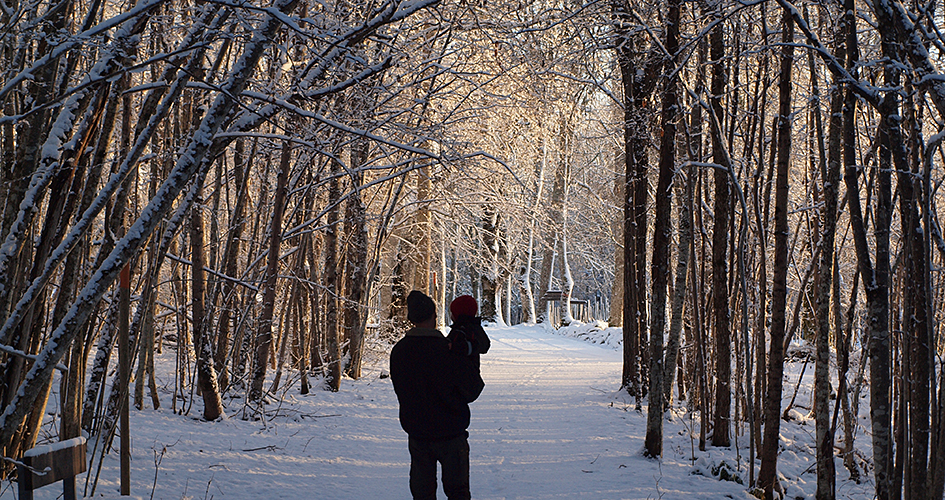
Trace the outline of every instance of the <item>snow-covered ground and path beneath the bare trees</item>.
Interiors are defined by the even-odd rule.
[[[753,498],[741,484],[712,476],[724,461],[747,478],[747,450],[740,458],[735,449],[699,452],[698,415],[691,422],[681,408],[666,422],[662,460],[642,457],[645,406],[638,412],[617,392],[621,353],[608,340],[612,330],[593,325],[558,334],[528,326],[487,329],[492,349],[482,357],[486,388],[472,404],[469,429],[473,498]],[[173,352],[163,356],[162,366],[170,369]],[[339,393],[315,390],[301,396],[295,381],[282,402],[268,407],[265,421],[241,420],[238,401],[219,422],[199,419],[199,398],[188,416],[167,408],[133,410],[132,497],[410,498],[407,437],[390,379],[381,378],[386,368],[379,356],[362,379],[345,380]],[[172,386],[171,376],[164,375],[165,386]],[[787,383],[796,380],[796,375],[786,380],[788,396]],[[169,406],[170,395],[162,398]],[[808,394],[802,391],[799,402],[804,398]],[[813,422],[804,419],[782,424],[779,470],[786,498],[814,498],[812,433]],[[742,446],[747,442],[745,436],[738,439]],[[90,450],[93,446],[90,442]],[[117,454],[106,457],[95,498],[120,498],[118,467]],[[837,470],[840,498],[871,498],[871,484],[846,481],[839,460]],[[82,475],[80,495],[85,487]],[[16,498],[15,490],[15,484],[0,484],[0,498]],[[35,497],[61,494],[51,485]]]

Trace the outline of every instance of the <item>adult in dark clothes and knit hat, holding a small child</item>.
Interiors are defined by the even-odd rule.
[[[469,403],[485,383],[466,355],[450,350],[436,329],[436,305],[419,291],[407,296],[407,331],[390,353],[390,378],[410,450],[410,492],[436,499],[436,464],[450,500],[470,498]]]

